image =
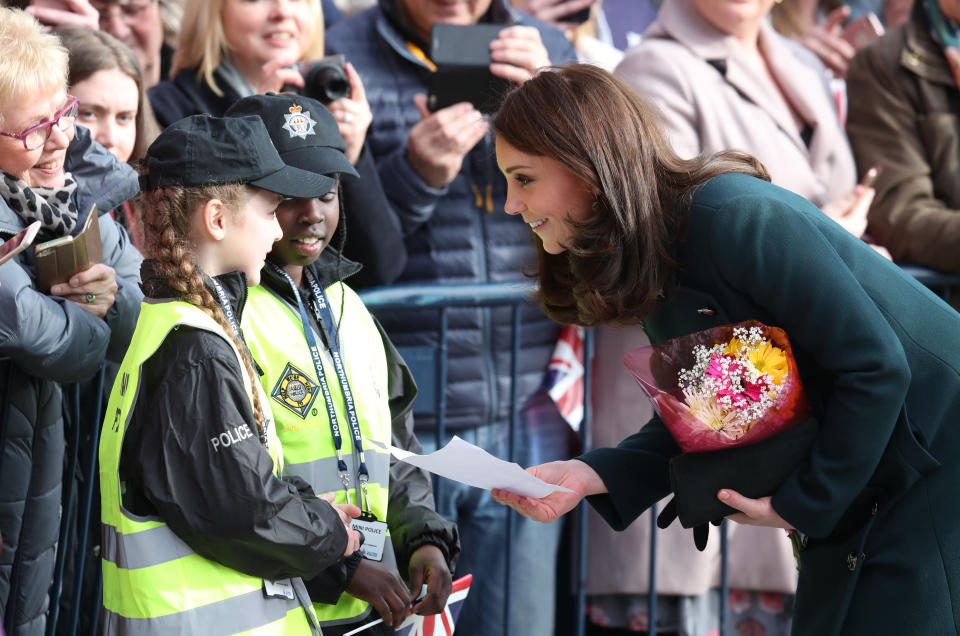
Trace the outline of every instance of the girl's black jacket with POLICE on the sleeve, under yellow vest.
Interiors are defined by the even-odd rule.
[[[145,261],[148,297],[169,298]],[[218,278],[236,315],[246,302],[241,273]],[[157,515],[194,551],[265,579],[310,578],[340,561],[347,533],[336,510],[303,482],[273,475],[256,434],[214,450],[212,437],[248,426],[253,409],[236,355],[223,338],[180,327],[143,365],[123,441],[124,505]]]

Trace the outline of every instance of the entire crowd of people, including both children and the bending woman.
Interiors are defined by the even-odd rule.
[[[0,265],[0,633],[57,627],[71,427],[100,428],[81,631],[391,634],[469,573],[459,633],[562,634],[544,522],[581,499],[589,632],[648,631],[645,511],[678,449],[620,361],[747,319],[790,334],[820,432],[770,497],[718,494],[740,511],[728,599],[716,533],[662,531],[657,629],[710,633],[721,603],[729,633],[960,629],[936,503],[960,293],[898,267],[960,273],[956,0],[0,5],[0,239],[91,214],[102,239],[48,288],[32,248]],[[431,103],[438,24],[496,27],[502,105]],[[442,414],[414,410],[401,351],[441,319],[357,291],[529,277],[517,359],[510,309],[450,309]],[[576,458],[544,383],[571,324],[596,341]],[[573,492],[435,497],[389,449],[437,449],[441,417]]]

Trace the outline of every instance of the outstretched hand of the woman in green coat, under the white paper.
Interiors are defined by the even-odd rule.
[[[541,499],[525,497],[508,490],[493,489],[493,500],[510,506],[524,517],[550,523],[577,507],[587,495],[607,491],[603,480],[590,466],[576,459],[540,464],[527,472],[548,484],[569,488],[573,492],[554,492]]]

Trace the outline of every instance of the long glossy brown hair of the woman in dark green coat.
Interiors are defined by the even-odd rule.
[[[679,264],[674,257],[696,186],[726,172],[769,180],[749,155],[681,159],[658,114],[624,82],[587,64],[544,69],[511,91],[494,122],[521,152],[559,161],[599,195],[565,254],[537,239],[535,298],[554,320],[635,324]]]

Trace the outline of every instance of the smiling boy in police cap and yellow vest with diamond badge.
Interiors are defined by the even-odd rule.
[[[429,476],[392,460],[387,448],[421,452],[413,435],[416,388],[343,280],[359,265],[341,254],[339,180],[356,172],[336,120],[317,101],[255,95],[227,114],[259,115],[284,162],[336,180],[322,196],[288,199],[277,208],[283,238],[268,256],[261,286],[249,292],[243,327],[265,372],[261,383],[277,418],[285,474],[363,510],[354,521],[364,533],[363,556],[307,581],[324,633],[343,634],[378,616],[383,623],[368,633],[393,633],[411,611],[442,611],[460,548],[456,526],[434,510]],[[328,247],[335,236],[337,247]],[[426,596],[415,601],[422,584]]]

